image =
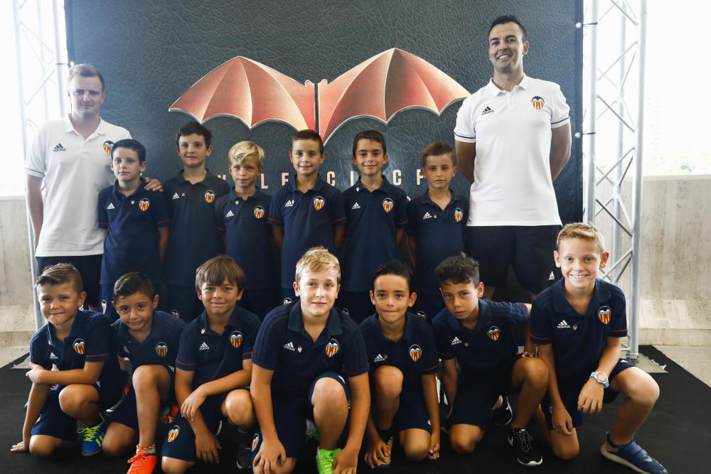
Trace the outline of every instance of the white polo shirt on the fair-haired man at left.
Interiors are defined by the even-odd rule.
[[[25,158],[25,172],[43,178],[44,212],[37,257],[104,252],[106,231],[97,225],[100,190],[114,183],[105,142],[131,138],[127,129],[101,120],[84,139],[69,117],[43,124]]]

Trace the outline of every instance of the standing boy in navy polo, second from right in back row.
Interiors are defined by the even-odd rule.
[[[358,181],[343,191],[343,211],[348,220],[343,262],[343,284],[338,306],[356,322],[373,313],[370,275],[378,265],[397,259],[407,224],[407,195],[387,182],[385,136],[361,131],[353,139],[353,164]]]

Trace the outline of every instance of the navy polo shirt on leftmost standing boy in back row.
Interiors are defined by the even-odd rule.
[[[99,227],[108,229],[104,240],[100,284],[113,284],[129,271],[142,271],[161,281],[157,227],[171,224],[161,193],[146,191],[141,183],[132,195],[119,193],[118,181],[99,193]]]

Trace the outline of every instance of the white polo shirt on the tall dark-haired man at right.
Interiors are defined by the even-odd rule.
[[[525,75],[511,92],[490,80],[464,100],[454,139],[476,143],[466,225],[560,225],[550,138],[569,111],[560,86]]]

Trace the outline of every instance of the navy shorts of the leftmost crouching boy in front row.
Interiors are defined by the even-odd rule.
[[[93,387],[99,394],[98,404],[100,409],[111,408],[121,399],[121,395],[126,388],[128,374],[124,371],[122,375],[115,379],[100,380]],[[54,436],[65,441],[72,441],[77,438],[77,420],[65,414],[59,404],[59,392],[64,389],[63,385],[56,385],[50,389],[47,401],[42,407],[40,417],[32,426],[31,436],[38,434]]]

